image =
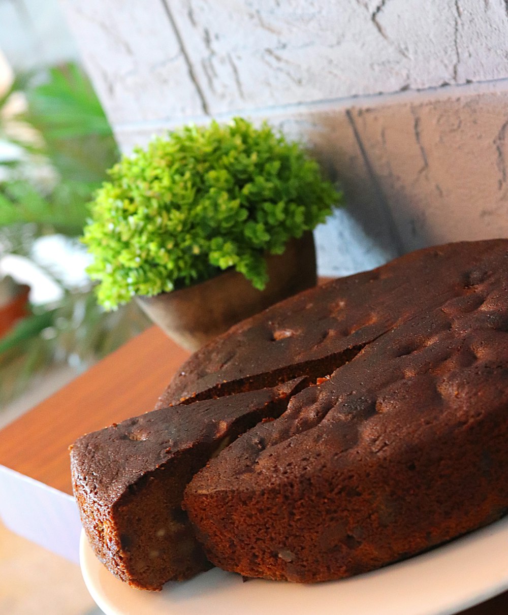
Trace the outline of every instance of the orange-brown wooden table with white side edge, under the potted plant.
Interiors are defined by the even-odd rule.
[[[0,431],[4,523],[77,561],[81,524],[68,446],[82,434],[152,410],[187,357],[159,328],[149,328]],[[504,615],[508,592],[463,613]]]

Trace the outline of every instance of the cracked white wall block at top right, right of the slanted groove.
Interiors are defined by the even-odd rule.
[[[211,113],[508,74],[502,0],[188,0],[167,6]]]

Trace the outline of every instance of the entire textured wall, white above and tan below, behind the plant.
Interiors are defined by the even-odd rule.
[[[504,0],[61,2],[125,151],[237,113],[314,149],[348,202],[322,274],[508,235]]]

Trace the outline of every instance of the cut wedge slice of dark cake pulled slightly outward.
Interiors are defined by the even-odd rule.
[[[185,486],[210,458],[306,385],[157,410],[87,434],[71,447],[73,490],[97,557],[133,587],[160,590],[210,567],[181,509]]]

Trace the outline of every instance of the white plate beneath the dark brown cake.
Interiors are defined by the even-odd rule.
[[[132,589],[93,555],[81,570],[106,615],[448,615],[508,589],[508,517],[464,538],[368,574],[300,585],[214,568],[162,592]]]

